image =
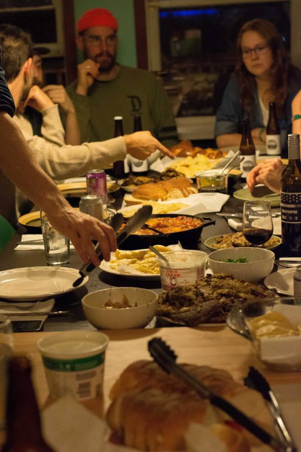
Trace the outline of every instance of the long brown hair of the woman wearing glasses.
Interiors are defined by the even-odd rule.
[[[238,63],[235,73],[240,83],[240,103],[242,107],[251,112],[254,105],[252,87],[255,87],[255,77],[251,74],[242,59],[241,39],[247,31],[254,31],[264,38],[272,52],[273,64],[271,71],[271,91],[275,96],[275,103],[279,110],[285,102],[288,89],[288,57],[282,37],[276,27],[265,19],[253,19],[246,22],[240,29],[237,38]]]

